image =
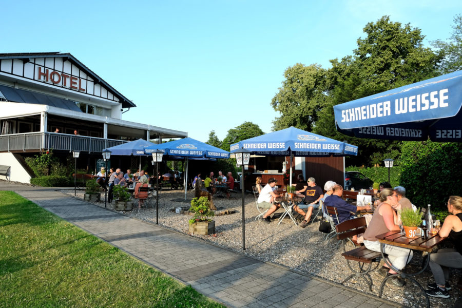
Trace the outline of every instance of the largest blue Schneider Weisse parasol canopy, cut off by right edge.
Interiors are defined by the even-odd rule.
[[[462,71],[334,106],[337,130],[359,138],[462,142]]]

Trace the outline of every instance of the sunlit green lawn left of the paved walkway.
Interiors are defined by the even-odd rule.
[[[223,307],[0,191],[0,307]]]

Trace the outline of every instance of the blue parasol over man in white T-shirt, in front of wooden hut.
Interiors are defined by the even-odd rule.
[[[289,156],[292,185],[292,155],[297,157],[329,157],[358,155],[358,147],[334,139],[289,127],[262,136],[242,140],[231,145],[231,153],[240,148],[251,150],[255,155]]]

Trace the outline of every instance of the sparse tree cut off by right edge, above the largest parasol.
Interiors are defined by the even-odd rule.
[[[450,73],[462,69],[462,15],[454,17],[453,32],[449,42],[436,40],[432,45],[437,48],[443,57],[441,73]]]

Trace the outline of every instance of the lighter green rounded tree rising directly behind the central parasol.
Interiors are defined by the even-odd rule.
[[[273,121],[273,129],[297,127],[311,131],[320,110],[326,105],[325,73],[320,65],[297,63],[284,72],[282,87],[271,101],[281,116]]]

